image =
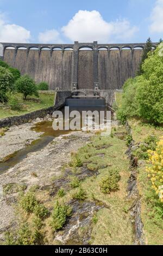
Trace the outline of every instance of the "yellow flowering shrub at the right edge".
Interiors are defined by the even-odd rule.
[[[148,150],[149,166],[146,167],[152,188],[163,203],[163,137],[157,143],[156,150]]]

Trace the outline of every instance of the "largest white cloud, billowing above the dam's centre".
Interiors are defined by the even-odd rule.
[[[71,41],[92,42],[97,40],[99,43],[131,40],[138,30],[136,26],[132,27],[126,19],[106,22],[96,10],[79,10],[61,29],[62,33]]]

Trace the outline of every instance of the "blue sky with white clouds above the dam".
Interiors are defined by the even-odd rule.
[[[3,43],[143,43],[163,38],[163,0],[0,0]]]

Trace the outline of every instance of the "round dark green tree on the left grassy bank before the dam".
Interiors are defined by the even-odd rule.
[[[37,86],[35,81],[28,75],[23,75],[15,82],[16,90],[23,93],[24,99],[27,99],[28,95],[35,95],[39,97]]]

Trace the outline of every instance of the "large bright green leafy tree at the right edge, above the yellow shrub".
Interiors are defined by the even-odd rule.
[[[163,123],[163,56],[159,50],[142,65],[143,76],[136,91],[141,117],[154,124]]]

